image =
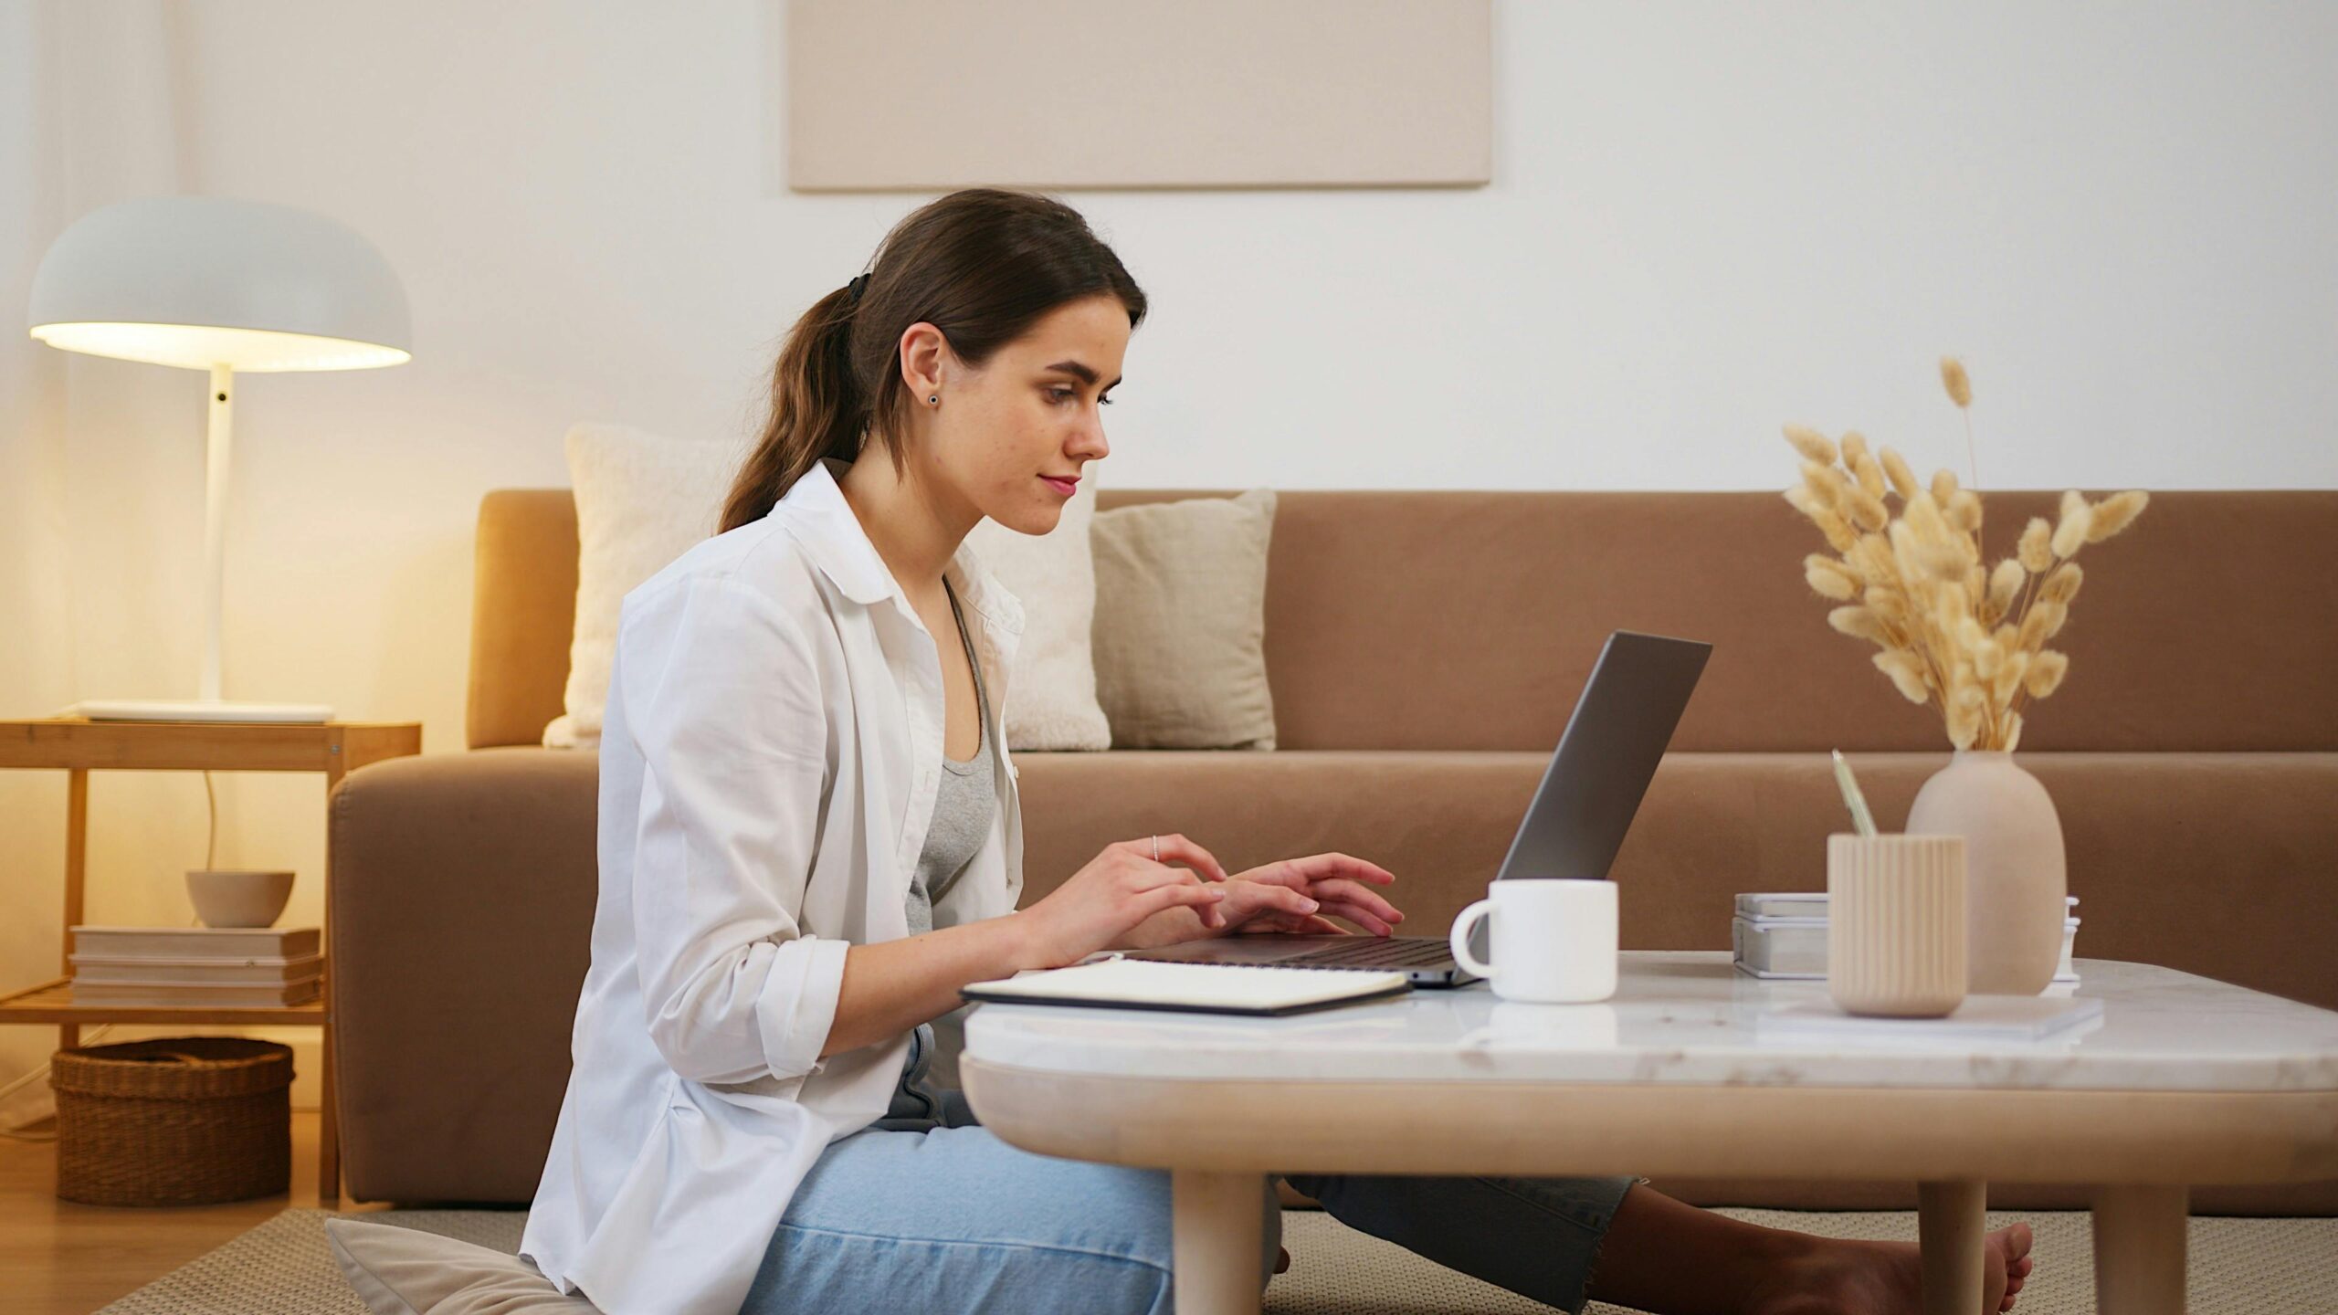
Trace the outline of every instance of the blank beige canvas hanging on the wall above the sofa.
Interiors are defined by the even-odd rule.
[[[1492,178],[1492,0],[765,2],[795,192]]]

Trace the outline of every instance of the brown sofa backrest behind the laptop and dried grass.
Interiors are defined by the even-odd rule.
[[[1784,452],[1784,449],[1782,449]],[[1779,463],[1779,484],[1793,475]],[[1218,496],[1104,489],[1113,508]],[[1990,555],[2053,491],[1990,491]],[[2298,564],[2338,491],[2179,489],[2090,548],[2022,751],[2338,751],[2338,601]],[[1267,569],[1281,749],[1548,749],[1611,629],[1714,646],[1683,751],[1948,749],[1826,625],[1824,548],[1777,494],[1284,489]],[[2317,583],[2324,580],[2324,583]],[[2235,648],[2235,636],[2247,643]]]

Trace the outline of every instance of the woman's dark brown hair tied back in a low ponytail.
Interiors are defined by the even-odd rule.
[[[821,459],[856,461],[867,438],[902,468],[909,325],[942,330],[949,351],[980,370],[1047,311],[1099,292],[1120,297],[1129,328],[1143,323],[1143,290],[1061,201],[968,187],[912,211],[877,246],[858,302],[837,288],[788,332],[772,367],[772,419],[732,482],[722,529],[765,517]]]

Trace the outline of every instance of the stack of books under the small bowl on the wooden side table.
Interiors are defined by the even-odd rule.
[[[72,1004],[267,1008],[325,990],[316,927],[75,927]]]

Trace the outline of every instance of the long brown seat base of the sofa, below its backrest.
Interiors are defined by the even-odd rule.
[[[2338,1008],[2324,945],[2338,753],[2022,758],[2062,814],[2081,978],[2088,957],[2142,959]],[[1113,840],[1183,831],[1234,870],[1321,849],[1379,861],[1398,877],[1403,931],[1443,936],[1501,863],[1545,760],[1022,753],[1024,903]],[[1854,756],[1884,828],[1945,763]],[[589,962],[594,796],[594,758],[556,749],[395,758],[334,791],[327,987],[355,1200],[535,1193]],[[1613,870],[1625,948],[1725,950],[1735,894],[1824,889],[1826,835],[1842,826],[1824,753],[1667,756]],[[1889,1191],[1730,1184],[1711,1200],[1875,1207],[1901,1200]],[[2055,1200],[2083,1205],[2083,1191]],[[2202,1186],[2193,1207],[2329,1214],[2338,1184]]]

